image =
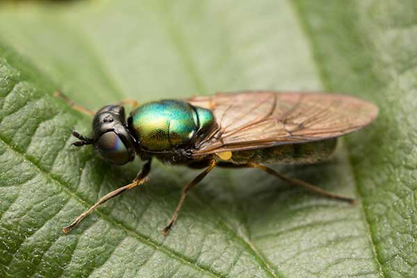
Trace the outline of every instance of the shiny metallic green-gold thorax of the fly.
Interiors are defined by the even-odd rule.
[[[131,112],[129,126],[143,149],[166,151],[191,145],[213,125],[211,111],[185,101],[152,101]]]

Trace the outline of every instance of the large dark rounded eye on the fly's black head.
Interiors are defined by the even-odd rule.
[[[106,132],[100,136],[96,147],[100,155],[112,163],[122,165],[131,160],[126,146],[113,131]]]

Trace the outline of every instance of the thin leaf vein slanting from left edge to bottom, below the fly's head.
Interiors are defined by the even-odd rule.
[[[64,182],[61,181],[58,177],[54,177],[50,172],[45,171],[38,163],[33,161],[33,159],[29,156],[27,156],[24,152],[20,152],[19,149],[16,149],[13,147],[13,145],[10,145],[10,142],[3,138],[3,136],[0,135],[0,141],[3,143],[3,145],[7,146],[10,151],[12,151],[16,156],[19,156],[20,158],[23,158],[24,161],[28,161],[33,165],[33,167],[36,168],[40,174],[44,175],[51,181],[53,181],[56,185],[58,185],[61,190],[65,192],[65,194],[69,195],[73,199],[75,199],[77,202],[79,202],[83,207],[89,208],[92,204],[88,204],[84,199],[79,197],[76,193],[72,193],[69,189],[67,189],[67,186],[65,186]],[[140,243],[143,243],[145,245],[148,245],[149,247],[154,248],[154,250],[160,250],[161,252],[165,253],[167,256],[170,256],[172,259],[176,259],[177,261],[181,263],[186,263],[187,265],[192,266],[196,270],[200,270],[202,272],[206,272],[208,275],[211,275],[213,277],[224,277],[221,273],[215,272],[215,270],[212,270],[210,268],[206,268],[204,265],[199,265],[192,259],[183,256],[182,254],[179,254],[178,252],[175,252],[174,250],[170,250],[169,248],[159,245],[158,243],[154,242],[154,240],[151,240],[150,238],[147,238],[146,236],[138,233],[137,231],[133,231],[126,227],[123,223],[117,222],[116,220],[113,220],[110,216],[106,215],[106,213],[102,213],[100,209],[97,210],[97,214],[100,215],[100,218],[102,220],[106,220],[106,222],[112,224],[114,227],[117,227],[117,229],[122,229],[125,234],[128,234],[129,236],[132,236],[133,238],[136,238],[140,241]]]

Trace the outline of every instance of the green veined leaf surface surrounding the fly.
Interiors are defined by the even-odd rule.
[[[0,6],[0,277],[416,277],[416,3],[76,1]],[[129,183],[72,130],[91,109],[218,90],[329,90],[374,101],[379,119],[329,163],[281,172],[154,163],[152,179],[61,228]]]

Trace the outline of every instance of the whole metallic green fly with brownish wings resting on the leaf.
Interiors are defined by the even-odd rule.
[[[171,165],[204,168],[182,190],[166,235],[177,220],[190,189],[214,167],[255,167],[325,197],[354,202],[310,183],[279,174],[264,164],[317,163],[329,158],[336,139],[373,122],[378,108],[347,95],[304,92],[234,92],[190,99],[165,99],[138,105],[126,100],[96,113],[65,97],[72,108],[93,116],[92,136],[81,136],[72,145],[93,145],[109,163],[123,165],[139,156],[145,161],[136,179],[101,197],[88,211],[63,228],[65,234],[98,206],[147,181],[152,158]],[[131,104],[126,118],[124,105]]]

